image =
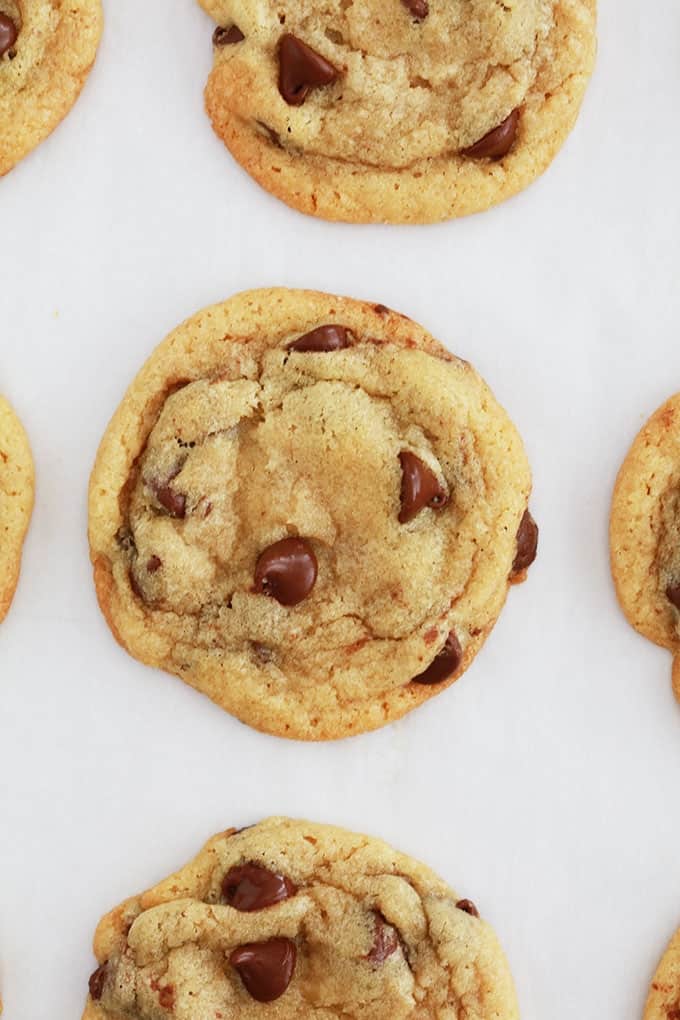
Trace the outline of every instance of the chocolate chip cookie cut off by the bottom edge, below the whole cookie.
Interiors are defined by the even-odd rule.
[[[84,1020],[516,1020],[469,900],[379,839],[272,818],[101,921]],[[266,1004],[266,1005],[264,1005]]]

